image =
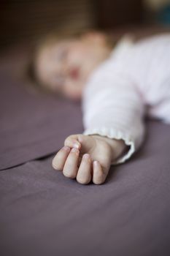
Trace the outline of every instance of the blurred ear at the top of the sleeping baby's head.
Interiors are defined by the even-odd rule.
[[[82,35],[82,41],[96,45],[105,45],[107,42],[106,34],[98,31],[90,31]]]

